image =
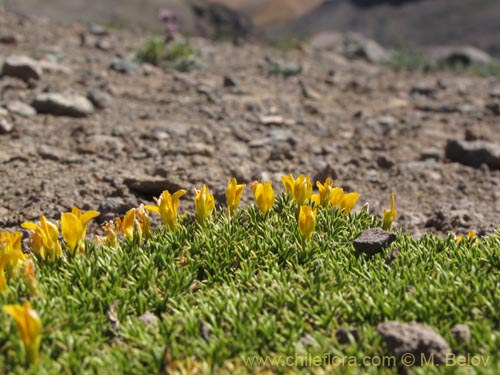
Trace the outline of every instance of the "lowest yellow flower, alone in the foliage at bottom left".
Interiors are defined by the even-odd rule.
[[[24,344],[26,359],[29,363],[38,360],[42,339],[42,322],[31,304],[26,301],[21,305],[5,305],[3,311],[14,318]]]

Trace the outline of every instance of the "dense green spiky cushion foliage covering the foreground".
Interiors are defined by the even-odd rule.
[[[428,324],[454,352],[489,358],[486,367],[415,373],[500,373],[500,231],[459,245],[452,235],[417,240],[398,233],[382,254],[357,255],[353,239],[380,224],[366,212],[321,209],[315,234],[304,241],[295,207],[281,195],[267,219],[253,207],[231,220],[218,211],[203,226],[185,216],[176,232],[158,230],[141,244],[124,240],[53,263],[37,259],[43,296],[32,305],[44,324],[40,361],[25,367],[15,324],[0,314],[0,373],[160,374],[182,366],[188,374],[264,367],[319,373],[269,363],[252,369],[251,359],[384,355],[376,325],[393,319]],[[2,305],[29,295],[21,278],[9,290]],[[145,313],[157,319],[144,323]],[[470,343],[454,341],[457,323],[471,327]],[[357,328],[360,341],[341,345],[339,327]],[[360,372],[397,370],[328,373]]]

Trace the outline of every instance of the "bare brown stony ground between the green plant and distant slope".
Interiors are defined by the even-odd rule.
[[[415,232],[500,224],[498,79],[197,38],[199,67],[181,73],[132,59],[149,34],[1,11],[0,25],[1,228],[72,206],[110,219],[202,183],[222,204],[229,177],[281,190],[289,173],[333,177],[377,213],[394,191]],[[490,159],[461,164],[450,138]]]

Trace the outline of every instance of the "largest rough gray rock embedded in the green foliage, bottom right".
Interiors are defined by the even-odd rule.
[[[451,353],[446,340],[422,324],[387,321],[379,324],[377,331],[382,335],[390,352],[398,357],[411,354],[416,366],[430,359],[433,359],[436,365],[444,364],[446,356]]]

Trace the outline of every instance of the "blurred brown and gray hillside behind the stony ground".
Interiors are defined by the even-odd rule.
[[[156,31],[158,10],[169,8],[196,32],[193,2],[222,3],[269,37],[358,31],[391,47],[473,45],[500,55],[500,0],[0,0],[20,13]]]

